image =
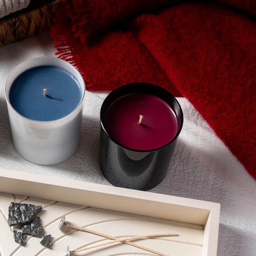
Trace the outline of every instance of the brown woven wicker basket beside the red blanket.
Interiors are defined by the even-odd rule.
[[[0,46],[49,29],[61,0],[46,1],[0,19]]]

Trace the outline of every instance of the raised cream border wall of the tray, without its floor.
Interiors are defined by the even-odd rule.
[[[202,256],[217,255],[220,204],[216,202],[3,168],[0,192],[200,224],[204,226]]]

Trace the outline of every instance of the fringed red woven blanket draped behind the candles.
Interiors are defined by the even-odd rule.
[[[186,97],[256,178],[255,0],[66,0],[51,34],[88,90]]]

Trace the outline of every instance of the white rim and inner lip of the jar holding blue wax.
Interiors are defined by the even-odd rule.
[[[41,63],[40,63],[41,61]],[[34,65],[33,65],[34,63]],[[57,65],[59,64],[59,65]],[[27,68],[24,68],[27,65]],[[24,115],[21,115],[15,108],[13,108],[10,100],[9,100],[9,90],[12,86],[13,81],[15,78],[17,78],[20,74],[23,72],[33,68],[33,67],[40,67],[40,66],[52,66],[52,67],[61,67],[68,71],[69,73],[70,70],[72,70],[72,75],[74,75],[75,79],[78,81],[80,87],[81,87],[81,100],[79,101],[78,105],[72,112],[70,112],[68,115],[65,115],[59,119],[56,120],[50,120],[50,121],[40,121],[40,120],[34,120],[30,119]],[[67,68],[65,68],[67,67]],[[68,69],[68,70],[67,70]],[[17,72],[17,75],[14,75],[14,79],[9,82],[9,80],[12,78],[12,75]],[[73,73],[74,72],[74,73]],[[82,106],[82,102],[84,101],[85,98],[85,82],[83,80],[83,77],[81,76],[80,72],[70,63],[67,61],[64,61],[62,59],[59,59],[57,57],[51,57],[51,56],[39,56],[39,57],[34,57],[30,58],[26,61],[22,61],[20,64],[18,64],[16,67],[13,68],[12,72],[8,75],[7,81],[6,81],[6,87],[5,87],[5,98],[7,101],[7,104],[9,105],[10,108],[15,112],[16,115],[20,116],[20,118],[25,119],[27,121],[33,122],[33,123],[40,123],[40,124],[53,124],[53,123],[59,123],[61,121],[66,121],[70,116],[74,115],[75,112],[78,112],[78,110]]]

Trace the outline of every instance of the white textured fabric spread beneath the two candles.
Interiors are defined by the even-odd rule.
[[[69,159],[40,166],[20,157],[13,147],[5,82],[12,69],[32,57],[55,56],[49,33],[0,47],[0,167],[21,172],[110,185],[98,164],[100,108],[108,92],[86,92],[81,142]],[[256,255],[256,180],[216,137],[184,98],[184,113],[168,175],[151,192],[221,203],[218,256]]]

